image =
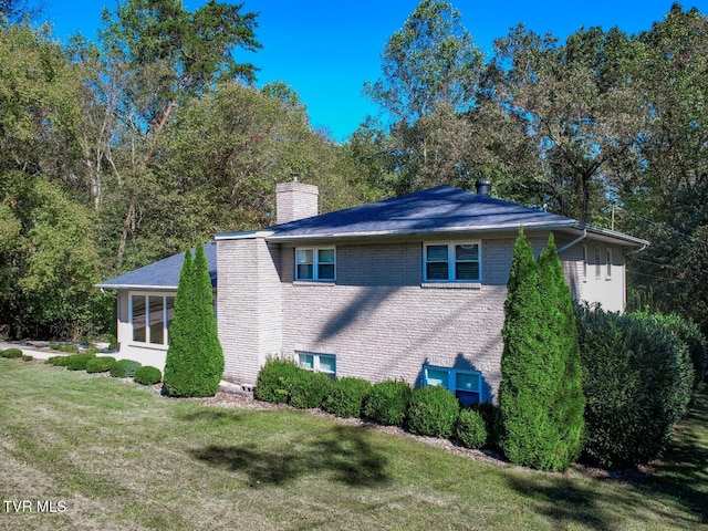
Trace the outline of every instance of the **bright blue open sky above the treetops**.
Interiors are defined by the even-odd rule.
[[[223,1],[223,0],[222,0]],[[362,95],[365,81],[381,72],[381,52],[388,37],[415,10],[417,0],[240,0],[243,11],[259,12],[257,38],[263,49],[242,53],[238,60],[254,63],[258,84],[284,81],[308,106],[312,125],[345,139],[366,115],[377,108]],[[186,0],[194,10],[202,0]],[[238,3],[238,2],[233,2]],[[565,38],[581,27],[618,27],[627,33],[650,28],[662,20],[673,0],[537,0],[506,2],[452,0],[477,45],[489,55],[492,41],[523,22],[539,32]],[[684,8],[708,12],[708,0],[680,2]],[[81,31],[95,39],[103,6],[114,10],[116,0],[44,0],[44,20],[64,40]]]

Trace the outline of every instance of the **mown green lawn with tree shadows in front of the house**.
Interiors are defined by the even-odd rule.
[[[0,360],[0,445],[3,530],[708,529],[705,392],[669,459],[627,481]]]

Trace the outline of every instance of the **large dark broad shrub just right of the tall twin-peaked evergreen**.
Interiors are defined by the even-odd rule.
[[[608,468],[659,457],[690,399],[688,348],[650,315],[587,306],[576,313],[587,397],[586,457]]]

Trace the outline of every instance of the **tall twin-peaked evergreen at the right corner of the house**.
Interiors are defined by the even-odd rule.
[[[572,302],[552,238],[537,263],[519,230],[504,313],[499,445],[513,464],[565,469],[582,449],[584,399]]]

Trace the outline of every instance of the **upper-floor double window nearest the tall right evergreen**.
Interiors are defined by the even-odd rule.
[[[481,241],[426,242],[424,282],[481,282]]]

